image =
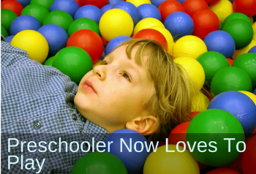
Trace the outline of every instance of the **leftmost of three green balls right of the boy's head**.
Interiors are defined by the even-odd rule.
[[[202,65],[203,70],[206,73],[206,88],[210,87],[211,79],[219,69],[230,67],[227,58],[225,58],[221,53],[215,51],[208,51],[201,54],[197,57],[197,61]]]

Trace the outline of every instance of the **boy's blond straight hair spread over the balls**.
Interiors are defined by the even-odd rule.
[[[175,126],[189,121],[191,94],[188,75],[157,41],[129,39],[121,45],[127,45],[128,58],[131,58],[132,48],[139,46],[135,54],[135,62],[138,65],[142,64],[143,56],[148,56],[143,64],[146,64],[149,79],[154,81],[154,88],[145,108],[152,116],[157,117],[157,122],[152,128],[155,131],[149,136],[149,140],[165,140]]]

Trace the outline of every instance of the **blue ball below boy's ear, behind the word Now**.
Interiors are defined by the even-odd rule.
[[[121,140],[124,140],[125,143],[121,143]],[[108,149],[108,142],[110,141],[113,141],[113,143],[110,144],[110,149]],[[121,159],[125,167],[127,167],[128,174],[143,173],[144,163],[151,152],[151,150],[146,149],[146,146],[148,147],[149,145],[143,135],[132,129],[119,129],[108,135],[104,142],[107,147],[102,149],[105,149],[106,152],[110,152],[110,154]]]

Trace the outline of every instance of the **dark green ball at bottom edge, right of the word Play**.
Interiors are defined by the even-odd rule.
[[[121,159],[108,152],[91,152],[75,163],[71,174],[127,174]]]

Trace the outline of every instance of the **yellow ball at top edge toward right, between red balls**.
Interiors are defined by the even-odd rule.
[[[233,4],[229,0],[220,0],[217,4],[210,5],[209,9],[218,16],[221,23],[234,12]]]

